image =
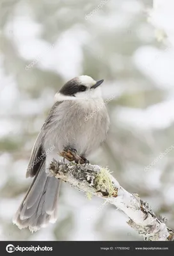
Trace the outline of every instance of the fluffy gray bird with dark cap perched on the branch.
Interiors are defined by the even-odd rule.
[[[33,182],[13,218],[20,229],[34,232],[57,219],[61,181],[49,174],[52,159],[59,159],[68,148],[88,163],[86,157],[106,140],[110,120],[100,88],[103,82],[74,77],[54,96],[29,159],[26,177],[34,177]]]

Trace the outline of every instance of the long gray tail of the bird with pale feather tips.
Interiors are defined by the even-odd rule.
[[[45,166],[45,164],[43,164]],[[47,223],[56,221],[56,208],[60,181],[48,177],[44,167],[36,176],[28,189],[24,200],[16,212],[13,223],[19,228],[29,227],[36,231]]]

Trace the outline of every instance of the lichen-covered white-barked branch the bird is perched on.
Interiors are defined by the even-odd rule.
[[[146,241],[174,240],[174,232],[166,227],[164,219],[159,220],[150,205],[141,200],[138,194],[123,189],[107,168],[91,164],[84,166],[74,162],[65,164],[61,160],[53,159],[50,172],[56,179],[115,205],[129,217],[129,226]]]

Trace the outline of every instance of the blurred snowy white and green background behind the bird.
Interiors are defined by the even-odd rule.
[[[151,164],[174,145],[173,0],[0,3],[0,239],[143,239],[114,206],[67,184],[55,224],[33,234],[12,224],[31,184],[25,178],[31,148],[54,94],[82,74],[105,80],[104,99],[115,95],[107,105],[109,136],[91,163],[109,166],[174,228],[174,150]]]

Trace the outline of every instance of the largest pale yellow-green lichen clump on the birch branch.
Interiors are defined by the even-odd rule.
[[[107,191],[109,196],[113,196],[116,195],[116,188],[113,186],[110,174],[111,172],[107,167],[101,168],[100,172],[95,178],[95,184],[97,190]]]

